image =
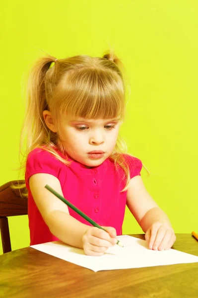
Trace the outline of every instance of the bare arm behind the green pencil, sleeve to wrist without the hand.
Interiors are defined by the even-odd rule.
[[[39,173],[30,177],[29,184],[34,201],[52,234],[69,245],[82,248],[82,235],[89,226],[71,217],[67,205],[45,188],[49,184],[63,196],[59,180],[53,175]]]

